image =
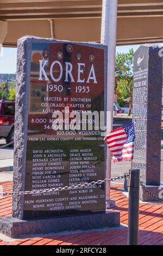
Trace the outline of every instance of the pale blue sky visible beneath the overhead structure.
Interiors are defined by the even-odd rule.
[[[134,51],[140,45],[127,45],[127,46],[117,46],[116,52],[128,52],[130,48],[133,48]],[[1,56],[0,56],[0,74],[14,74],[16,72],[16,48],[3,47]]]

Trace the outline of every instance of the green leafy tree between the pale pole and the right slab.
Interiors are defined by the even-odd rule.
[[[119,95],[121,100],[130,97],[128,115],[131,115],[133,108],[133,60],[133,49],[130,49],[128,53],[117,53],[115,69],[115,76],[118,77],[117,88],[121,92]]]

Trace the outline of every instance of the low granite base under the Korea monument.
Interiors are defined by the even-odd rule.
[[[12,238],[61,231],[89,230],[120,226],[120,212],[46,218],[41,220],[18,220],[11,216],[0,217],[0,233]]]

